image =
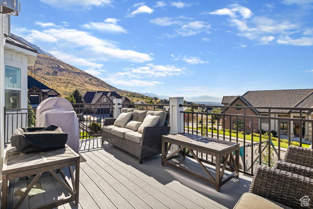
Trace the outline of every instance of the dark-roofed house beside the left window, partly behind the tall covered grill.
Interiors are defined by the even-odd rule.
[[[49,97],[61,97],[61,94],[59,94],[57,91],[44,85],[40,81],[37,81],[32,76],[28,76],[27,80],[28,100],[33,108],[38,107],[40,102]]]

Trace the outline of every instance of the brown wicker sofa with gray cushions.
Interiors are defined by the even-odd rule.
[[[129,133],[119,134],[116,132],[114,122],[116,118],[106,118],[104,120],[102,130],[102,144],[104,141],[119,147],[126,152],[135,155],[139,158],[139,163],[142,163],[142,158],[150,157],[162,153],[162,135],[170,133],[169,113],[157,110],[138,110],[133,108],[122,108],[121,113],[133,112],[131,120],[143,122],[149,114],[160,116],[156,126],[146,126],[143,128],[142,134],[131,131]],[[115,130],[113,130],[115,129]],[[125,128],[123,129],[125,131]],[[126,130],[127,131],[127,130]]]

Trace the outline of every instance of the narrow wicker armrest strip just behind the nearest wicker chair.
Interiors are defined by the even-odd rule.
[[[313,178],[313,168],[310,167],[278,161],[274,168],[279,170],[285,170],[298,175],[303,175],[305,177]]]

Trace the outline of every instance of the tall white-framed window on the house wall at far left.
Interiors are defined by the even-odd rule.
[[[4,103],[7,109],[20,108],[21,68],[5,65]]]

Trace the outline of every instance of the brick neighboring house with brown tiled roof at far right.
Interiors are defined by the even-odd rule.
[[[313,89],[290,89],[290,90],[267,90],[267,91],[247,91],[242,96],[224,96],[222,100],[224,106],[239,106],[238,108],[226,108],[226,114],[243,114],[244,110],[240,106],[252,106],[252,107],[313,107]],[[247,115],[268,116],[268,110],[264,109],[246,109]],[[288,133],[289,122],[283,120],[283,118],[300,118],[299,111],[288,110],[271,110],[272,117],[280,117],[280,124],[275,120],[271,123],[271,130],[278,130],[280,126],[281,133]],[[310,111],[303,112],[302,118],[313,119],[313,113]],[[251,119],[250,119],[251,120]],[[254,133],[259,131],[259,120],[254,119]],[[268,131],[269,121],[262,119],[262,129]],[[302,128],[302,135],[309,141],[312,140],[312,123],[302,123],[291,121],[291,137],[300,134],[300,128]],[[232,117],[232,128],[236,128],[236,118]],[[243,130],[243,118],[239,118],[238,128]],[[224,124],[223,124],[224,127]],[[225,128],[229,128],[229,118],[225,118]],[[246,118],[246,131],[251,132],[249,128],[249,118]]]

